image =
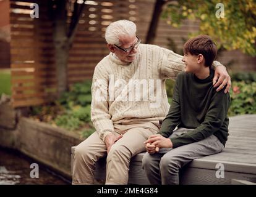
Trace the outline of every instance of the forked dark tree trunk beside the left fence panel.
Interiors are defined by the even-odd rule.
[[[69,58],[69,50],[74,40],[75,30],[79,22],[80,15],[85,4],[78,1],[55,0],[49,4],[51,17],[54,21],[54,47],[55,59],[58,78],[58,97],[67,90],[67,61]],[[67,9],[69,6],[69,9]],[[67,23],[67,12],[70,12],[70,24]]]

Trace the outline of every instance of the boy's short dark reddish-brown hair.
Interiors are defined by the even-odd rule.
[[[205,58],[205,66],[211,66],[217,55],[217,47],[210,36],[200,35],[189,39],[183,47],[184,54],[199,55]]]

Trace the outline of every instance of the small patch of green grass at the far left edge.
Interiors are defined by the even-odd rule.
[[[11,70],[0,69],[0,96],[2,93],[11,95]]]

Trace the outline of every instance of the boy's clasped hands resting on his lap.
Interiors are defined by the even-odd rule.
[[[163,137],[163,135],[150,135],[148,140],[144,142],[145,148],[149,154],[158,152],[160,148],[173,148],[171,139]]]

